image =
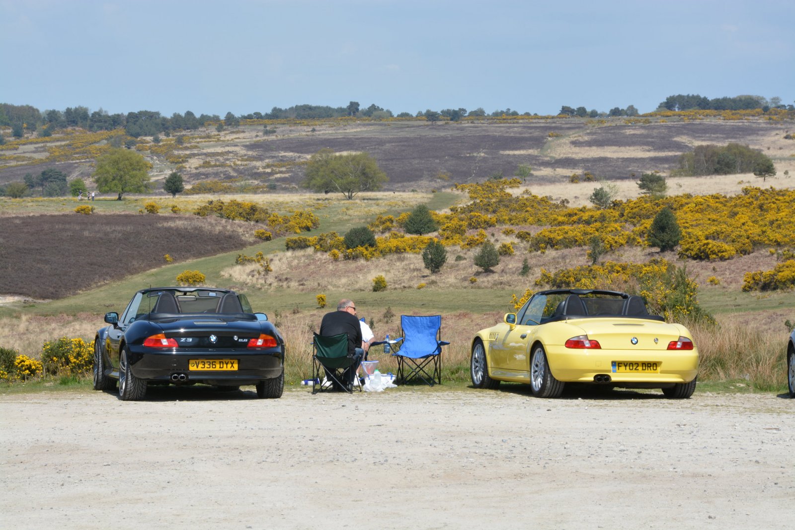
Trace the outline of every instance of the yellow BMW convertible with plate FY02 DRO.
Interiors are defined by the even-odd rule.
[[[475,388],[529,383],[537,397],[588,383],[661,388],[684,399],[696,390],[697,372],[698,350],[684,325],[650,315],[639,296],[612,290],[539,291],[472,341]]]

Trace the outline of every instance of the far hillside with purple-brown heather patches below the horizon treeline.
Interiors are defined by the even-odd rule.
[[[293,120],[264,126],[264,120],[249,121],[221,132],[204,127],[181,135],[181,146],[180,134],[159,143],[142,137],[136,149],[153,162],[156,183],[179,170],[188,185],[232,181],[271,191],[295,191],[304,163],[323,148],[372,154],[390,177],[386,191],[440,189],[495,173],[510,177],[520,164],[533,168],[530,184],[565,182],[572,173],[584,171],[607,180],[633,180],[633,175],[654,170],[668,174],[693,146],[728,142],[762,150],[773,158],[779,174],[795,172],[795,141],[784,138],[795,128],[791,120]],[[118,133],[68,133],[0,146],[0,185],[56,166],[91,187],[91,162]]]

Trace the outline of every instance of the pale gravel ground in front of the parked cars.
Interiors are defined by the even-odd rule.
[[[771,394],[0,396],[0,528],[793,528]]]

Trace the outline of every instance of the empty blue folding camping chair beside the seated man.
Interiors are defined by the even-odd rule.
[[[401,315],[402,337],[395,339],[392,356],[397,357],[397,384],[422,380],[428,386],[442,383],[442,317]]]

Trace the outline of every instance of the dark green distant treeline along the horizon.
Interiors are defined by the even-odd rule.
[[[689,111],[693,109],[715,110],[715,111],[734,111],[745,109],[761,108],[768,111],[770,108],[784,108],[790,111],[795,110],[793,105],[781,104],[781,98],[773,97],[770,100],[761,95],[738,95],[735,97],[722,97],[709,99],[701,95],[669,95],[665,101],[660,103],[657,110],[669,111]],[[223,120],[219,115],[196,115],[192,111],[185,111],[184,114],[175,112],[171,117],[166,117],[157,111],[138,111],[126,114],[109,114],[103,109],[89,111],[88,107],[68,107],[64,111],[48,110],[39,111],[31,105],[13,105],[10,103],[0,103],[0,126],[11,127],[15,137],[21,138],[25,131],[38,131],[41,136],[52,134],[55,129],[64,127],[82,127],[88,131],[113,131],[123,128],[126,134],[134,138],[139,136],[153,136],[154,134],[169,133],[169,131],[185,130],[191,131],[204,127],[208,122],[222,122],[227,126],[238,125],[241,119],[324,119],[340,118],[343,116],[361,116],[374,119],[386,118],[425,118],[429,121],[439,119],[449,119],[459,121],[465,117],[485,117],[485,116],[518,116],[530,115],[529,112],[511,110],[510,108],[498,109],[487,113],[482,107],[474,111],[467,111],[465,108],[445,108],[440,111],[417,111],[415,114],[401,112],[394,115],[389,109],[379,107],[375,103],[369,107],[361,107],[359,102],[351,101],[347,107],[328,107],[326,105],[295,105],[289,108],[273,107],[270,112],[252,112],[250,114],[236,116],[227,112]],[[560,107],[560,115],[591,117],[597,116],[634,116],[638,115],[638,110],[629,105],[626,108],[615,107],[608,112],[600,112],[595,109],[586,110],[585,107]]]

